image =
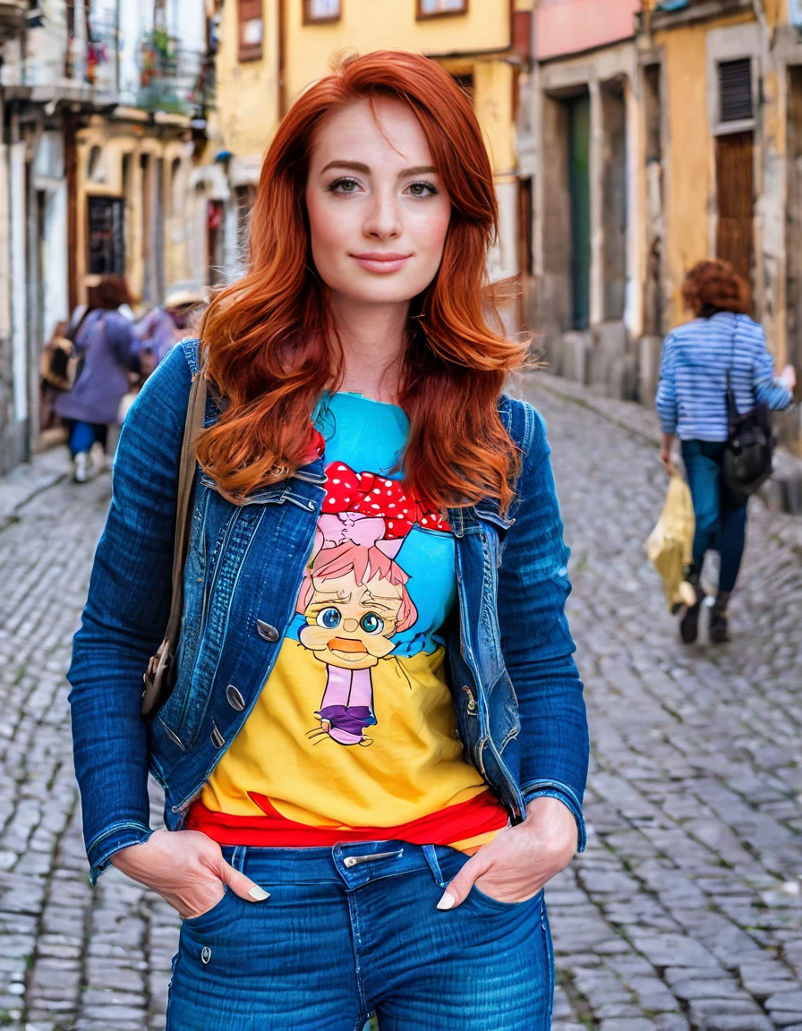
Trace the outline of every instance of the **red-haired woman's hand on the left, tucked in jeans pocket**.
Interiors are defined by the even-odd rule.
[[[111,863],[153,888],[181,917],[200,917],[223,898],[224,885],[247,902],[269,894],[226,862],[216,841],[200,831],[155,831],[143,844],[121,849]]]

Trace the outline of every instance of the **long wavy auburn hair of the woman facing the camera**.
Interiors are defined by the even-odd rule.
[[[410,424],[404,477],[437,508],[482,497],[506,508],[512,500],[520,457],[497,404],[527,344],[503,335],[486,287],[498,233],[493,170],[471,102],[447,72],[420,55],[383,51],[341,60],[295,101],[262,166],[248,271],[201,323],[206,374],[223,410],[200,434],[197,455],[235,503],[311,461],[311,412],[342,381],[342,350],[310,252],[309,154],[334,112],[382,98],[416,115],[453,205],[440,268],[410,304],[398,394]]]

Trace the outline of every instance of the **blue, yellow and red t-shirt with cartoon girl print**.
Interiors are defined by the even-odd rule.
[[[450,529],[394,471],[402,408],[327,394],[314,422],[327,494],[295,617],[187,826],[222,844],[472,851],[507,814],[463,757],[445,680]]]

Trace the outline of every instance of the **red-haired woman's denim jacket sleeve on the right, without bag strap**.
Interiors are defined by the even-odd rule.
[[[542,418],[523,406],[525,435],[520,499],[499,569],[499,624],[504,662],[519,700],[521,785],[525,802],[559,798],[576,818],[588,778],[588,720],[565,603],[569,551]]]

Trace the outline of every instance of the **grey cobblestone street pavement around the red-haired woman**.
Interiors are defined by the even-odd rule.
[[[654,447],[532,398],[573,548],[594,740],[588,851],[547,891],[555,1029],[802,1031],[802,559],[788,523],[754,503],[735,640],[683,648],[642,551],[665,490]],[[0,533],[0,1026],[20,1031],[164,1025],[177,921],[116,871],[90,890],[72,779],[64,670],[107,501],[106,475],[60,484]]]

